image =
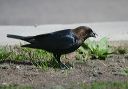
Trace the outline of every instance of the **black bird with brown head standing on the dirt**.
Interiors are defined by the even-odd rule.
[[[53,53],[53,56],[59,63],[60,68],[67,69],[69,67],[60,61],[61,55],[74,52],[86,39],[89,37],[96,37],[96,35],[97,34],[93,32],[90,27],[78,26],[74,29],[64,29],[35,36],[7,34],[7,37],[20,39],[29,43],[22,45],[21,47],[42,49]]]

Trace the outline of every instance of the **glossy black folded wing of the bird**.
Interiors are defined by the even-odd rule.
[[[76,36],[71,29],[57,31],[34,37],[36,44],[42,48],[68,49],[76,43]]]

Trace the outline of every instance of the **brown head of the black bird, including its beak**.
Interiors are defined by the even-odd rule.
[[[89,37],[96,37],[96,33],[92,31],[91,28],[86,26],[79,26],[75,29],[73,29],[73,32],[79,39],[86,40]]]

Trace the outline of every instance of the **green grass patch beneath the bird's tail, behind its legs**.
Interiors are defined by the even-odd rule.
[[[11,60],[14,62],[30,63],[38,68],[56,68],[58,64],[54,61],[52,54],[39,49],[21,48],[19,46],[7,46],[0,48],[0,62]]]

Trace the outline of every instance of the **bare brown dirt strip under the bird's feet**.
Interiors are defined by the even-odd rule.
[[[33,65],[0,64],[0,84],[30,85],[49,89],[56,85],[77,86],[94,81],[128,82],[128,54],[112,54],[106,60],[76,62],[69,70],[41,70]]]

